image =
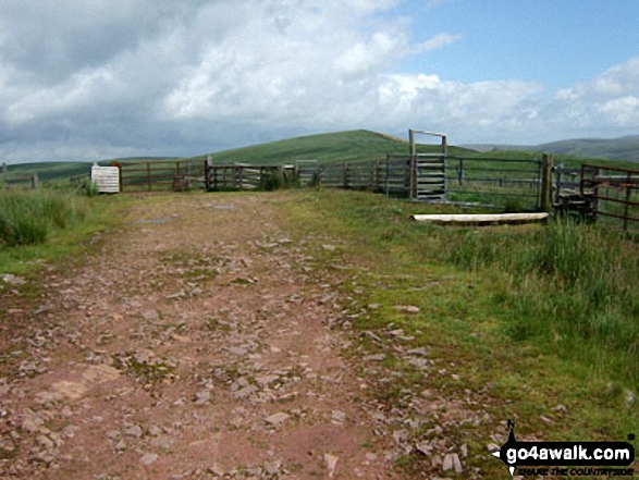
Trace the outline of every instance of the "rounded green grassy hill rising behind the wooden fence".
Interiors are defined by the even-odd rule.
[[[440,151],[439,145],[419,145],[419,152]],[[470,152],[457,147],[451,153]],[[253,163],[286,164],[296,160],[317,160],[320,163],[357,160],[382,160],[386,153],[408,153],[408,141],[365,130],[309,135],[235,148],[212,153],[218,164]],[[204,160],[207,156],[194,157]]]

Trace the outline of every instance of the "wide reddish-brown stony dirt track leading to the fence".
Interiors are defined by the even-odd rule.
[[[394,478],[331,279],[260,198],[149,197],[51,275],[4,345],[2,478]]]

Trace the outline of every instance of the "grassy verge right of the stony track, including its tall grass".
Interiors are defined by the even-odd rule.
[[[456,211],[366,193],[288,192],[284,224],[315,245],[318,263],[340,266],[359,332],[403,329],[406,348],[460,381],[386,386],[467,390],[521,435],[541,440],[618,440],[639,424],[639,245],[575,223],[490,227],[409,222],[413,213]],[[294,226],[295,225],[295,226]],[[310,238],[310,239],[309,239]],[[315,239],[314,239],[315,238]],[[335,253],[322,249],[336,242]],[[370,309],[369,305],[376,305]],[[397,305],[417,306],[418,315]],[[392,347],[390,352],[392,352]],[[388,350],[389,352],[389,350]],[[397,360],[388,365],[406,371]],[[418,378],[419,376],[417,376]],[[484,394],[489,394],[486,397]],[[482,396],[483,395],[483,396]],[[557,409],[557,407],[560,409]],[[494,430],[465,429],[471,448],[486,452]],[[421,461],[419,455],[404,459]],[[503,466],[476,465],[501,478]],[[488,471],[487,471],[488,469]]]

